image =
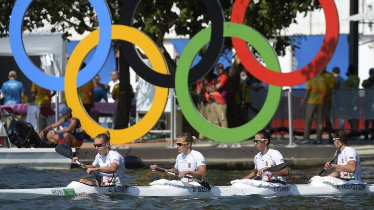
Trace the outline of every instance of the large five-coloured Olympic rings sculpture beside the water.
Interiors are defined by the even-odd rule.
[[[168,88],[173,87],[184,117],[198,132],[219,142],[243,141],[263,129],[274,116],[281,98],[282,86],[301,84],[322,71],[333,55],[339,32],[334,1],[320,1],[326,17],[326,36],[320,52],[308,65],[298,71],[281,73],[276,54],[268,41],[255,29],[242,25],[250,0],[234,2],[231,22],[224,22],[219,0],[203,1],[212,26],[201,30],[190,40],[179,58],[175,75],[168,75],[168,66],[157,45],[146,34],[131,27],[140,0],[124,1],[120,14],[121,25],[111,24],[110,12],[105,1],[89,0],[89,2],[98,14],[100,30],[92,31],[74,49],[66,67],[65,78],[52,77],[39,71],[24,51],[21,36],[22,21],[32,0],[18,0],[15,3],[9,25],[10,45],[14,58],[26,77],[46,89],[65,90],[68,106],[72,108],[74,116],[80,119],[83,129],[89,135],[96,136],[97,133],[105,132],[108,128],[101,127],[86,114],[80,103],[77,87],[91,80],[100,71],[108,56],[112,39],[129,42],[121,45],[125,52],[124,57],[138,75],[157,87],[152,106],[141,121],[129,128],[110,129],[112,144],[132,142],[149,132],[164,112]],[[214,66],[223,48],[224,37],[232,37],[237,55],[247,71],[269,84],[268,95],[261,111],[250,122],[235,128],[221,128],[207,122],[192,103],[188,88],[189,84],[204,76]],[[209,38],[210,46],[207,53],[197,66],[190,69],[194,57],[200,48],[209,42]],[[248,50],[246,42],[260,53],[266,67],[255,59]],[[78,73],[84,57],[96,45],[98,50],[93,59]],[[154,70],[140,60],[134,45],[145,52]]]

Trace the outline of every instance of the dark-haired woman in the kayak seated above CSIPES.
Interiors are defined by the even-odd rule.
[[[256,133],[253,142],[256,148],[260,151],[255,156],[255,168],[247,176],[242,179],[249,179],[255,175],[262,177],[262,181],[281,183],[286,185],[285,176],[288,175],[288,168],[284,168],[277,172],[263,172],[266,168],[284,163],[283,155],[277,151],[269,148],[271,133],[269,130],[260,130]]]

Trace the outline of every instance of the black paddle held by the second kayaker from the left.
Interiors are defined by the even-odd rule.
[[[133,156],[133,155],[127,155],[126,157],[124,157],[124,165],[126,165],[126,168],[131,168],[131,169],[142,168],[142,167],[150,168],[150,165],[146,165],[140,158],[138,158],[136,156]],[[170,170],[166,170],[166,169],[159,168],[159,167],[155,167],[154,170],[169,173],[173,176],[178,177],[177,173],[174,173]],[[196,178],[196,177],[193,177],[193,176],[188,176],[188,175],[184,175],[183,178],[193,180],[193,181],[199,183],[201,186],[207,188],[208,190],[211,190],[209,183],[205,182],[205,181],[203,181],[199,178]]]

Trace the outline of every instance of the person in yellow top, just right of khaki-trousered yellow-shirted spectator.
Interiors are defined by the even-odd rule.
[[[332,107],[332,89],[335,86],[335,77],[326,71],[322,70],[322,75],[326,81],[326,98],[323,104],[323,118],[326,124],[326,131],[329,134],[329,143],[332,144],[332,124],[331,124],[331,107]]]

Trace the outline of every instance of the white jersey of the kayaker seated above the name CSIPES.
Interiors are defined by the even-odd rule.
[[[269,149],[266,154],[261,154],[261,152],[259,152],[255,156],[255,169],[259,170],[264,167],[272,167],[284,162],[285,160],[283,159],[283,155],[279,151]],[[271,177],[268,177],[266,174],[262,175],[262,181],[271,180],[281,180],[283,182],[286,182],[286,177],[276,176],[275,174],[273,174]]]

